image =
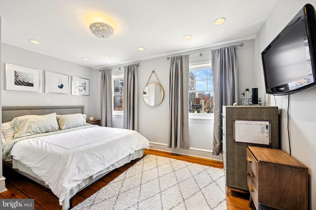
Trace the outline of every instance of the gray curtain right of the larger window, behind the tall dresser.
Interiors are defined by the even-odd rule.
[[[211,51],[214,90],[213,155],[222,151],[222,106],[238,103],[238,58],[236,46]]]

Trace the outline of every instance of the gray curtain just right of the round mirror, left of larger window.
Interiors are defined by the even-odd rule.
[[[168,148],[189,149],[189,55],[170,60]]]

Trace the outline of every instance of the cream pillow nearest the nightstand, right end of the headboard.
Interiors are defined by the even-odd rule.
[[[85,121],[86,116],[81,113],[69,115],[57,115],[57,121],[61,130],[66,130],[73,127],[88,125]]]

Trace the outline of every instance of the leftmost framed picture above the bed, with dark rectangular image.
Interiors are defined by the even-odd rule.
[[[5,90],[40,92],[40,70],[5,63]]]

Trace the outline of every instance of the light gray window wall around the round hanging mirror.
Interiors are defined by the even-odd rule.
[[[231,46],[243,43],[243,47],[237,47],[239,60],[239,92],[245,88],[257,88],[255,85],[254,74],[254,40],[244,40],[235,43],[218,45],[214,47],[204,48],[200,50],[190,51],[185,54],[193,54],[209,51],[224,46]],[[175,55],[172,55],[175,56]],[[169,123],[169,65],[170,60],[166,60],[167,56],[154,58],[149,60],[141,60],[137,67],[138,79],[138,113],[139,113],[139,132],[144,135],[153,145],[154,149],[172,151],[174,153],[188,154],[205,158],[222,160],[222,155],[212,155],[213,150],[213,120],[212,119],[190,119],[189,120],[189,138],[190,150],[167,148],[168,123]],[[168,57],[171,57],[168,56]],[[117,66],[114,66],[117,67]],[[110,67],[108,67],[110,68]],[[148,106],[143,98],[142,92],[147,81],[155,71],[158,80],[164,90],[164,99],[156,107]],[[113,70],[113,74],[118,70]],[[152,76],[149,82],[157,82],[156,77]],[[240,94],[241,96],[241,94]],[[261,97],[259,95],[259,97]],[[122,117],[114,116],[114,127],[122,127]]]

